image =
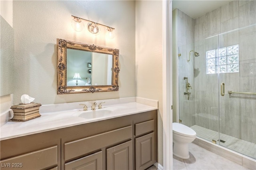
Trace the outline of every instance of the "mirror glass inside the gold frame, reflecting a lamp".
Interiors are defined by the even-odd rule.
[[[110,54],[67,48],[67,86],[112,85],[112,58]]]

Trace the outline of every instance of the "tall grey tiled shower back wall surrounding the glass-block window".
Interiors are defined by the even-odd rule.
[[[195,19],[194,43],[200,59],[194,60],[194,99],[199,102],[192,108],[196,125],[218,131],[218,96],[220,83],[224,82],[226,95],[220,97],[220,132],[253,143],[256,143],[256,98],[228,95],[228,90],[256,92],[255,24],[255,0],[232,1]],[[206,74],[206,51],[236,44],[239,44],[239,73],[220,74],[219,82],[217,74]]]

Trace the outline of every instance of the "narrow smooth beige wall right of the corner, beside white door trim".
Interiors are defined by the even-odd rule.
[[[158,100],[158,163],[163,165],[162,1],[136,0],[136,96]]]

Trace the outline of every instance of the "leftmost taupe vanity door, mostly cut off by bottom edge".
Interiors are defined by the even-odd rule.
[[[102,170],[102,151],[66,163],[65,170]]]

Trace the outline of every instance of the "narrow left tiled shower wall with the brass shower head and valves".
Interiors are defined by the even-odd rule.
[[[194,50],[194,19],[178,9],[176,9],[176,12],[178,53],[181,54],[178,57],[179,119],[182,120],[182,124],[192,126],[195,125],[194,54],[191,52],[189,63],[187,59],[189,51]],[[186,92],[184,77],[188,77],[188,83],[192,86],[192,89],[189,89],[191,93],[189,100],[188,95],[184,95],[184,92]]]

